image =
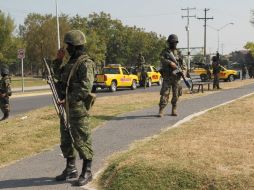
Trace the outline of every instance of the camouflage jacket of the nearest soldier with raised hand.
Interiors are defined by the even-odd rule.
[[[70,78],[68,97],[66,97],[68,78],[76,63],[78,65]],[[54,77],[58,80],[60,97],[68,99],[70,116],[79,117],[86,115],[87,110],[84,109],[83,105],[93,87],[95,74],[94,62],[87,55],[83,54],[77,59],[70,59],[64,65],[59,61],[55,61],[53,70]]]

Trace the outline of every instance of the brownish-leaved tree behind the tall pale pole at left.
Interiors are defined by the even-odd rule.
[[[60,39],[63,44],[64,34],[70,30],[68,16],[59,17]],[[20,34],[26,42],[27,64],[31,71],[42,72],[42,58],[55,58],[57,52],[56,17],[31,13],[20,26]]]

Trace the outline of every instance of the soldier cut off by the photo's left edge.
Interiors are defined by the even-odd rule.
[[[0,80],[0,108],[4,116],[0,121],[5,120],[9,117],[9,96],[11,96],[11,79],[9,77],[9,70],[7,68],[2,68],[1,76],[2,78]]]

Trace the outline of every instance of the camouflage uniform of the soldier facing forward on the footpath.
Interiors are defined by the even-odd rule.
[[[169,36],[168,42],[170,42],[170,37],[172,35]],[[178,43],[178,39],[177,42]],[[160,91],[160,103],[159,103],[159,116],[162,117],[163,116],[163,110],[164,108],[167,106],[168,101],[169,101],[169,94],[170,94],[170,90],[172,89],[172,99],[171,99],[171,104],[172,104],[172,115],[176,116],[176,106],[177,106],[177,100],[179,98],[179,96],[182,94],[181,92],[181,86],[180,86],[180,79],[181,76],[178,74],[174,74],[173,73],[173,68],[171,68],[170,63],[172,62],[172,59],[170,58],[170,54],[173,54],[176,61],[178,62],[178,64],[180,64],[179,66],[181,68],[185,68],[184,67],[184,63],[179,61],[179,53],[178,51],[172,50],[169,47],[164,49],[161,53],[161,72],[162,72],[162,76],[163,76],[163,83],[162,83],[162,87],[161,87],[161,91]]]

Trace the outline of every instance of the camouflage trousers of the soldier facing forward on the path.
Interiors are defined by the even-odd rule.
[[[180,86],[180,80],[177,79],[164,79],[160,91],[160,108],[165,108],[169,101],[170,91],[172,89],[171,104],[176,106],[179,96],[182,95],[182,87]]]

